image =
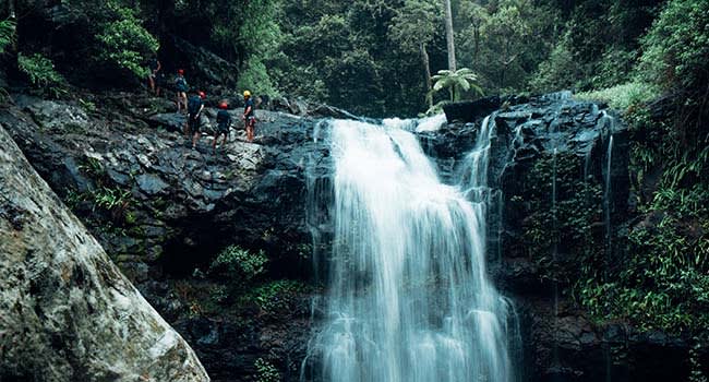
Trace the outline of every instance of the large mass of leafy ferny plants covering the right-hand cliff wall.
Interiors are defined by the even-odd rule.
[[[702,333],[709,325],[709,148],[681,139],[644,105],[625,115],[633,136],[630,176],[644,219],[629,229],[625,258],[608,274],[591,267],[576,286],[598,319],[642,330]],[[646,179],[659,174],[659,179]],[[656,184],[646,192],[647,183]],[[700,374],[693,373],[700,380]]]

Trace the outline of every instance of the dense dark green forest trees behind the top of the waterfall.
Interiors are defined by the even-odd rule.
[[[51,1],[52,14],[38,14],[38,3],[9,1],[4,36],[12,12],[20,53],[43,55],[77,83],[141,76],[155,52],[169,70],[188,65],[179,46],[191,44],[236,64],[238,84],[229,85],[404,116],[426,111],[431,74],[449,69],[443,1],[64,0]],[[640,80],[664,85],[675,76],[661,62],[683,65],[674,61],[702,51],[666,57],[660,34],[689,43],[682,39],[702,32],[692,28],[690,9],[706,7],[701,0],[453,0],[455,63],[476,73],[485,95]],[[36,35],[34,26],[47,22],[57,34]],[[82,70],[69,70],[76,62]],[[448,98],[433,93],[436,102]]]

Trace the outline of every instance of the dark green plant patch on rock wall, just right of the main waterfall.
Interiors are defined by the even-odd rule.
[[[542,277],[562,283],[578,277],[579,264],[601,266],[604,253],[593,235],[594,224],[602,219],[602,186],[592,177],[580,178],[581,165],[574,153],[545,155],[525,175],[524,195],[510,198],[512,207],[527,216],[521,223],[522,248],[543,270]],[[554,259],[554,251],[576,258],[564,264]]]

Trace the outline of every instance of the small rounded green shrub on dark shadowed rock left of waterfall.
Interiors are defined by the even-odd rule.
[[[251,253],[237,246],[224,249],[209,264],[209,274],[243,286],[266,272],[268,258],[264,251]]]

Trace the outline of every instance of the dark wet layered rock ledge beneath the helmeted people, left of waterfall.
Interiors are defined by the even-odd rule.
[[[305,168],[328,171],[313,120],[261,110],[256,144],[235,132],[215,153],[209,139],[192,151],[176,133],[181,115],[116,104],[123,116],[107,120],[72,103],[17,97],[0,123],[132,279],[190,274],[235,238],[284,259],[284,272],[310,268]],[[214,121],[213,109],[205,114]]]

